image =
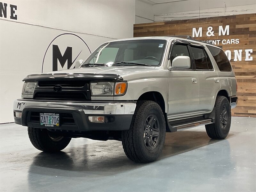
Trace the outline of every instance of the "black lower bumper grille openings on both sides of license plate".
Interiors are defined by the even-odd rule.
[[[75,125],[75,120],[71,113],[59,113],[60,114],[60,125]],[[29,122],[40,123],[40,113],[30,112]]]

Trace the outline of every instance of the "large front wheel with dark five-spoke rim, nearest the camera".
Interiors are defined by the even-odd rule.
[[[138,163],[155,161],[162,152],[165,132],[161,107],[154,101],[138,101],[130,129],[122,132],[126,156]]]

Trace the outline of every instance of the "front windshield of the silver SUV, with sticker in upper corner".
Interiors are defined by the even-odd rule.
[[[116,41],[102,44],[96,49],[90,57],[84,61],[84,64],[112,64],[118,62],[123,65],[146,64],[149,66],[160,65],[166,40],[161,39],[143,39]],[[121,64],[121,63],[120,63]]]

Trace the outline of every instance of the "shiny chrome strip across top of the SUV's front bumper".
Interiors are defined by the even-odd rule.
[[[26,107],[49,107],[49,108],[76,108],[84,111],[84,114],[103,115],[133,115],[136,103],[73,103],[73,102],[52,102],[52,101],[23,101],[15,100],[13,110],[22,111]]]

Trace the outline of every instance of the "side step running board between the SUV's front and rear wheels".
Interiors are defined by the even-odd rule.
[[[212,119],[204,119],[204,118],[191,118],[191,119],[183,119],[176,121],[169,121],[169,124],[177,131],[186,130],[192,127],[197,127],[199,125],[211,124]]]

